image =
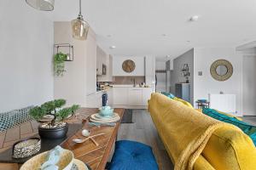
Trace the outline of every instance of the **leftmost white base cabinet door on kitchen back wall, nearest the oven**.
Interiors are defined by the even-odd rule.
[[[128,88],[113,88],[113,105],[128,104]]]

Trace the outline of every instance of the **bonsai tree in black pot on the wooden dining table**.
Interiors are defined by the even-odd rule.
[[[61,139],[66,136],[68,125],[65,119],[73,115],[79,109],[79,105],[61,108],[65,104],[65,99],[55,99],[45,102],[41,106],[36,106],[29,111],[30,116],[38,122],[44,116],[49,115],[52,117],[51,121],[39,125],[38,133],[41,138]]]

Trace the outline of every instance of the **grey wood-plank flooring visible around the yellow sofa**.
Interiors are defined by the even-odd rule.
[[[244,122],[249,122],[256,126],[256,116],[241,117]],[[147,111],[133,110],[133,122],[123,123],[119,128],[118,139],[129,139],[150,145],[154,150],[160,169],[172,170],[173,165],[164,145],[154,127],[154,123]]]

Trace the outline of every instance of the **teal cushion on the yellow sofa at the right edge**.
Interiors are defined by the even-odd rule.
[[[253,143],[256,145],[256,127],[254,127],[253,125],[250,125],[247,122],[242,122],[236,119],[235,117],[219,114],[218,111],[215,111],[213,109],[204,108],[202,112],[207,116],[211,116],[212,118],[215,118],[219,121],[228,122],[230,124],[235,125],[236,127],[241,128],[241,130],[244,133],[246,133],[253,140]]]

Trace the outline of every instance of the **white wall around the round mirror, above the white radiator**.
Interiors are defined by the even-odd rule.
[[[227,59],[233,65],[233,75],[224,82],[212,78],[210,67],[217,59]],[[175,66],[175,65],[174,65]],[[242,115],[242,57],[235,48],[194,48],[194,99],[208,99],[208,94],[236,94],[237,116]],[[202,71],[202,76],[198,76]]]

